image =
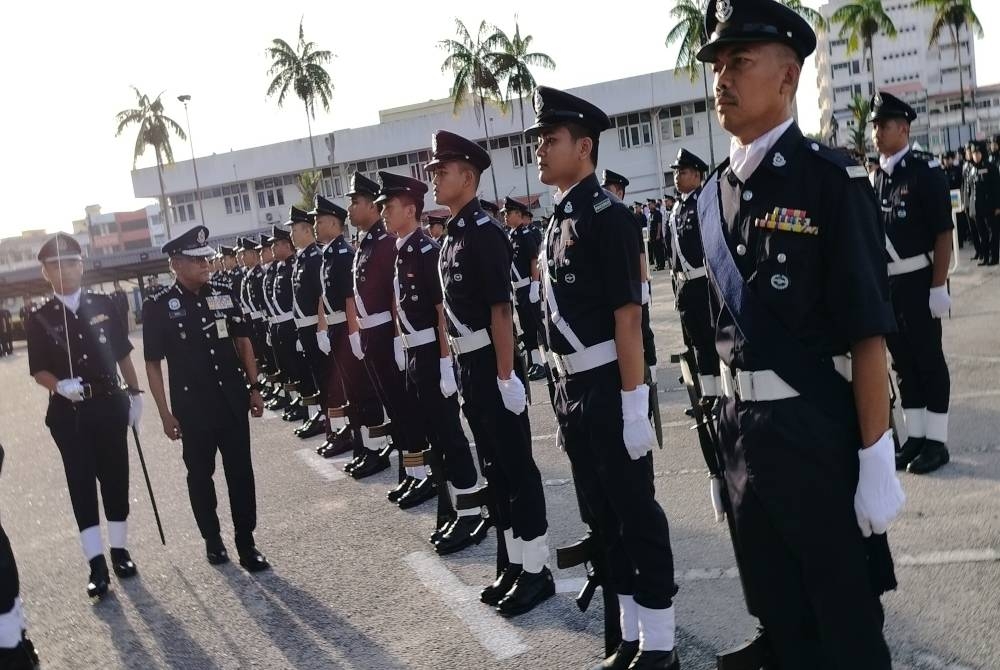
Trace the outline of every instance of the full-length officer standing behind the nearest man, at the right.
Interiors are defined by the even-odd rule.
[[[898,331],[886,337],[899,382],[907,440],[896,468],[932,472],[948,462],[951,382],[941,348],[941,318],[951,309],[951,196],[936,160],[910,150],[917,113],[890,93],[876,93],[869,122],[879,151],[875,197],[885,225],[889,288]]]

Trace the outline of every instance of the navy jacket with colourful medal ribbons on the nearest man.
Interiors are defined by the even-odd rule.
[[[728,168],[728,160],[719,166],[720,181]],[[750,290],[793,337],[829,357],[895,331],[885,233],[863,167],[793,124],[740,193],[738,215],[724,229],[730,252]],[[720,358],[741,370],[767,369],[729,311],[713,311]]]

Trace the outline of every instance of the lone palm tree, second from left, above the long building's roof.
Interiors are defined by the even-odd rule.
[[[330,98],[333,96],[333,84],[330,73],[323,66],[330,62],[333,54],[316,48],[315,42],[307,42],[302,30],[302,20],[299,20],[299,41],[295,48],[281,38],[271,40],[267,48],[271,58],[271,67],[267,71],[273,76],[271,85],[267,87],[267,96],[278,94],[278,107],[281,107],[288,95],[289,89],[295,92],[306,108],[306,127],[309,129],[309,152],[312,154],[313,169],[316,169],[316,149],[312,145],[312,121],[316,118],[316,100],[319,99],[323,111],[330,111]]]

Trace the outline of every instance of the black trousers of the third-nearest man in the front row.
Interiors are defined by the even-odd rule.
[[[492,345],[458,357],[462,410],[496,507],[498,531],[533,540],[548,530],[542,475],[531,454],[528,412],[512,414],[497,387]]]

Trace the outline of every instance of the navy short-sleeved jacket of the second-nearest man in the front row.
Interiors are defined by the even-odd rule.
[[[584,346],[613,340],[615,310],[642,304],[640,250],[632,213],[601,188],[596,175],[556,205],[545,231],[541,270],[548,273],[559,313]],[[547,308],[547,321],[550,312]],[[575,351],[551,322],[548,334],[555,353]]]

